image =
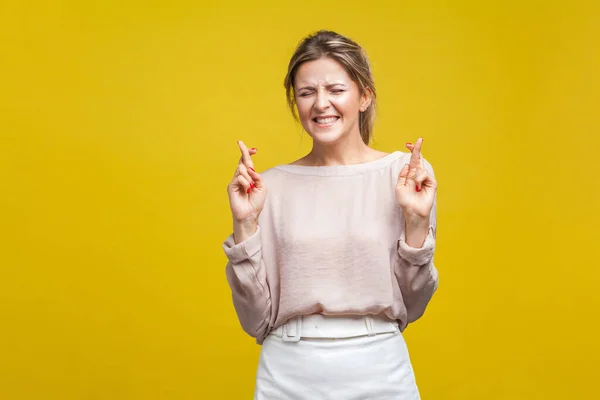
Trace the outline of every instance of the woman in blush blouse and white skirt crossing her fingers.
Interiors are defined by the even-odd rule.
[[[423,140],[406,153],[369,147],[369,61],[335,32],[299,44],[285,87],[312,151],[259,174],[257,150],[238,142],[228,186],[227,279],[262,344],[255,399],[418,399],[401,332],[437,288],[437,184]]]

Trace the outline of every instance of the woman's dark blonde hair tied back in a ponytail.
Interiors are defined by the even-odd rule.
[[[376,111],[375,83],[371,65],[364,49],[358,43],[339,33],[320,30],[308,35],[298,44],[290,59],[288,72],[283,81],[287,103],[292,115],[298,120],[294,95],[294,78],[298,68],[307,61],[314,61],[323,57],[330,57],[339,62],[350,75],[350,78],[358,85],[361,95],[368,91],[371,92],[371,104],[365,111],[360,113],[358,119],[360,136],[363,142],[368,145],[373,138]]]

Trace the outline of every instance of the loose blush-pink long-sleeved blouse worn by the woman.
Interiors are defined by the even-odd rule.
[[[385,315],[404,329],[423,314],[437,288],[435,201],[424,245],[411,248],[395,196],[410,157],[261,173],[269,195],[259,229],[223,242],[233,305],[258,344],[302,315]]]

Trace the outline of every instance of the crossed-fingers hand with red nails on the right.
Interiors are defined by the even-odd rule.
[[[396,198],[406,219],[429,219],[437,189],[436,180],[425,169],[422,145],[422,138],[414,145],[406,144],[412,154],[410,162],[400,171],[396,184]]]

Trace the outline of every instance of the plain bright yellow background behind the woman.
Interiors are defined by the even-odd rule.
[[[599,2],[14,0],[1,399],[251,398],[225,188],[237,139],[259,170],[310,148],[282,81],[319,28],[371,57],[374,147],[425,137],[439,181],[423,399],[600,398]]]

